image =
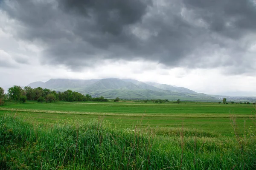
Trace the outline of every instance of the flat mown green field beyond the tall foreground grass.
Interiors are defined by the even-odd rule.
[[[52,123],[67,118],[87,121],[102,117],[114,127],[130,128],[142,121],[144,126],[179,128],[183,125],[188,129],[230,136],[233,132],[230,113],[236,116],[239,129],[244,130],[253,125],[250,119],[253,110],[253,105],[209,102],[7,102],[0,107],[0,114],[16,113],[38,122]]]

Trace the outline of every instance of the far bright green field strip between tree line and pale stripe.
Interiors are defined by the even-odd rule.
[[[44,111],[65,111],[72,113],[134,113],[134,114],[225,114],[230,111],[237,115],[248,115],[253,110],[253,105],[217,104],[217,103],[125,103],[125,102],[52,102],[52,103],[7,103],[0,108],[33,109]]]

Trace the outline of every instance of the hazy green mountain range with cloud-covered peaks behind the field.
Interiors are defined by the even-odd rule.
[[[72,90],[106,98],[216,101],[214,96],[199,94],[188,88],[156,82],[140,82],[135,79],[50,79],[47,82],[32,82],[27,86],[48,88],[55,91]]]

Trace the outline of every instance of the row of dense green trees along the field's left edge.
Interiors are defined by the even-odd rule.
[[[55,102],[55,101],[67,101],[67,102],[108,102],[108,99],[105,99],[103,96],[93,98],[89,94],[83,95],[76,91],[67,90],[64,92],[61,91],[52,91],[47,88],[31,88],[31,87],[20,87],[14,85],[8,89],[7,94],[4,93],[3,88],[0,88],[0,105],[3,104],[3,101],[20,101],[26,102],[26,100],[35,100],[38,102]]]

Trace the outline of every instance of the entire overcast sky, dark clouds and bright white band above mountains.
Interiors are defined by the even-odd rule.
[[[256,0],[0,0],[0,87],[110,77],[256,96]]]

